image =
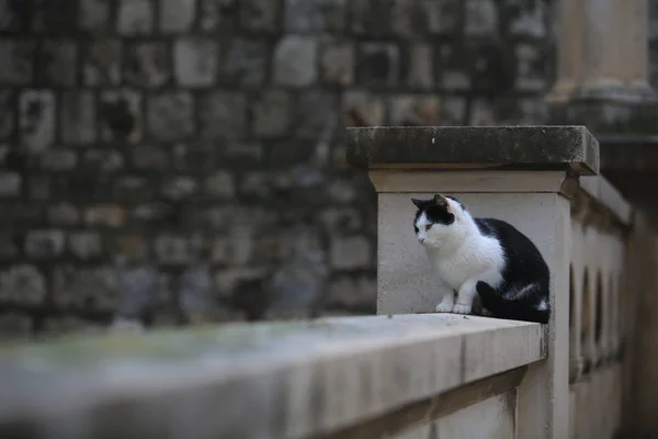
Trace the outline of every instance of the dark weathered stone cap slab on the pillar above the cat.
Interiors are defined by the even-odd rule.
[[[599,143],[585,126],[373,126],[347,132],[348,162],[368,169],[599,172]]]

